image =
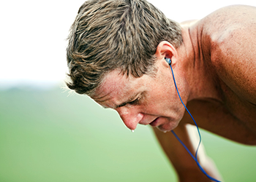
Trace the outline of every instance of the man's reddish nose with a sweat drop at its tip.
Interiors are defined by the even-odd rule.
[[[135,130],[140,120],[143,119],[143,114],[136,111],[134,108],[126,108],[124,106],[121,108],[116,108],[116,111],[129,130]]]

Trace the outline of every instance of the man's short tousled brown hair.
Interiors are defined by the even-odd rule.
[[[181,27],[145,0],[89,0],[69,34],[67,86],[93,95],[110,71],[140,77],[154,72],[157,45],[182,44]]]

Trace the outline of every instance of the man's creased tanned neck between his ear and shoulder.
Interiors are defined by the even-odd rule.
[[[211,41],[203,39],[202,30],[203,27],[199,23],[184,26],[182,30],[184,44],[179,50],[183,52],[181,55],[184,55],[182,56],[182,60],[184,60],[182,66],[189,85],[188,101],[209,98],[219,100],[215,82],[217,75],[212,69],[209,53],[211,44],[206,44]],[[204,46],[202,46],[202,42]]]

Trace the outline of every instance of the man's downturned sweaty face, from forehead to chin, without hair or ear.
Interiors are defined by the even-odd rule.
[[[156,64],[158,70],[154,76],[144,74],[135,78],[120,74],[119,70],[111,71],[92,98],[105,108],[115,109],[130,130],[135,130],[137,124],[173,130],[184,115],[184,106],[167,63],[159,60]],[[178,87],[185,89],[184,85]],[[187,99],[181,90],[180,94]]]

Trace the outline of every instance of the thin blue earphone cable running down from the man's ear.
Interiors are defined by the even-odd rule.
[[[170,60],[169,58],[166,58],[165,60],[166,60],[167,63],[169,64],[170,69],[171,69],[172,74],[173,74],[173,68],[172,68],[172,66],[171,66],[171,60]],[[181,95],[180,95],[179,92],[178,92],[178,87],[177,87],[177,85],[176,85],[176,81],[175,81],[175,78],[174,78],[174,74],[173,74],[173,82],[174,82],[174,84],[175,84],[175,87],[176,87],[176,90],[177,90],[177,93],[178,93],[178,97],[180,98],[181,103],[183,104],[184,108],[186,108],[187,112],[189,113],[189,115],[191,116],[191,118],[193,119],[193,121],[195,122],[195,119],[193,118],[192,114],[190,114],[189,110],[187,109],[187,107],[185,106],[185,104],[183,103],[183,101],[182,101],[182,99],[181,99]],[[199,138],[200,138],[199,143],[198,143],[198,146],[197,146],[197,150],[195,151],[195,157],[194,157],[193,154],[189,151],[189,149],[187,149],[187,146],[181,141],[181,139],[178,138],[178,135],[176,135],[176,133],[175,133],[173,130],[172,130],[171,132],[173,132],[173,135],[174,135],[174,136],[177,138],[177,140],[182,144],[182,146],[184,146],[184,148],[187,150],[187,152],[189,153],[189,155],[195,160],[195,162],[197,163],[197,166],[200,168],[200,170],[201,170],[209,179],[211,179],[212,181],[221,182],[221,181],[218,181],[218,180],[215,179],[215,178],[212,178],[210,175],[208,175],[208,174],[206,173],[206,171],[203,170],[203,167],[201,167],[201,165],[199,164],[199,162],[198,162],[198,160],[197,160],[197,152],[198,152],[198,149],[199,149],[199,146],[200,146],[200,144],[201,144],[202,139],[201,139],[200,131],[199,131],[199,128],[198,128],[196,122],[195,122],[195,126],[197,127],[197,132],[198,132],[198,135],[199,135]]]

